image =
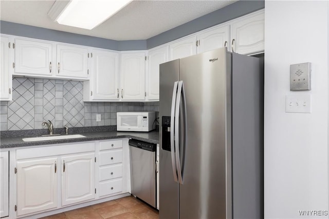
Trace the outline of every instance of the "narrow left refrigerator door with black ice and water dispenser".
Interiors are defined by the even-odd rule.
[[[159,162],[159,216],[161,219],[178,218],[178,182],[174,180],[170,151],[171,103],[174,82],[178,81],[179,60],[160,65],[160,162]],[[166,124],[162,124],[166,122]],[[163,209],[161,211],[161,209]]]

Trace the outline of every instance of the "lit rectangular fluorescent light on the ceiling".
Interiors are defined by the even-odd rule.
[[[59,24],[91,30],[132,0],[71,0],[57,17]]]

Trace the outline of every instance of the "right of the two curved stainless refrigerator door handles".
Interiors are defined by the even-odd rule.
[[[180,103],[182,103],[182,116],[183,116],[183,135],[179,135],[179,111],[180,111]],[[179,142],[180,142],[180,137],[183,139],[183,149],[182,149],[182,156],[185,155],[185,147],[186,147],[186,102],[185,102],[185,92],[184,92],[184,84],[182,81],[178,82],[178,88],[177,88],[177,98],[176,98],[176,109],[175,109],[175,151],[176,151],[176,169],[177,169],[177,174],[178,174],[178,182],[179,184],[183,184],[183,179],[182,179],[182,169],[180,166],[180,152],[179,152]],[[184,162],[184,157],[182,161]]]

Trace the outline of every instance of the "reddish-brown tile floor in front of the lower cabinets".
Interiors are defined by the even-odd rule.
[[[43,217],[43,219],[156,219],[159,212],[134,196],[127,196],[84,208]]]

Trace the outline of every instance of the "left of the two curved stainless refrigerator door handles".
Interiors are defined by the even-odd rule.
[[[175,125],[175,103],[176,103],[176,98],[177,98],[177,86],[178,86],[178,81],[175,81],[174,83],[174,88],[173,88],[173,97],[171,101],[171,123],[170,123],[170,150],[171,150],[171,164],[173,168],[173,174],[174,174],[174,180],[178,182],[178,177],[177,177],[177,169],[176,169],[176,161],[175,161],[175,140],[174,140],[174,125]]]

